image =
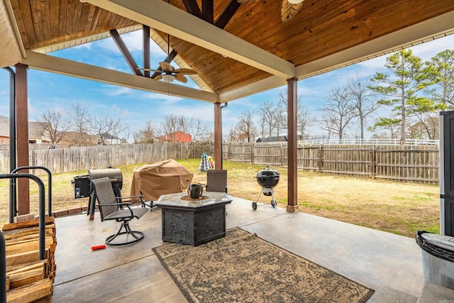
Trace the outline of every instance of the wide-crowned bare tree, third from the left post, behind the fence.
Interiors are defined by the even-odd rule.
[[[111,145],[114,141],[126,143],[129,138],[129,126],[124,124],[122,119],[121,115],[118,119],[113,119],[109,114],[101,111],[89,119],[91,132],[102,145]],[[118,137],[121,134],[123,134],[123,138]]]

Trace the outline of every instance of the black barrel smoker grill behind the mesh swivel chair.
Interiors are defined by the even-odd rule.
[[[94,196],[93,189],[90,186],[90,180],[109,177],[112,182],[115,197],[121,197],[121,187],[123,187],[123,175],[118,168],[106,168],[101,170],[88,170],[88,175],[81,175],[74,177],[72,184],[74,184],[74,198],[89,197],[88,211],[90,220],[93,219],[94,214]]]

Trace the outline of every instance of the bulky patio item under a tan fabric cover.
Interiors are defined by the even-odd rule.
[[[142,192],[145,200],[156,201],[161,194],[184,192],[192,177],[192,172],[173,159],[135,167],[131,196]]]

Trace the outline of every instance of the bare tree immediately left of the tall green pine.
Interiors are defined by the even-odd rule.
[[[360,77],[356,75],[355,78],[349,79],[347,84],[347,92],[351,95],[353,106],[358,115],[360,122],[361,139],[364,139],[364,130],[366,126],[366,119],[373,114],[382,104],[377,102],[377,94],[368,87],[370,83],[362,82]]]

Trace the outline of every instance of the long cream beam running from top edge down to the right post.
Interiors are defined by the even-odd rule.
[[[284,79],[294,65],[162,0],[87,0],[113,13]]]

